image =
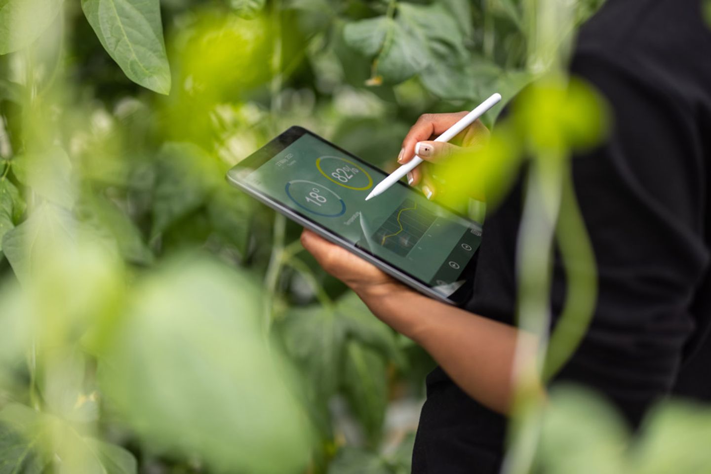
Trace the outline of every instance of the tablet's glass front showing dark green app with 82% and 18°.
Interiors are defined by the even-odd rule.
[[[401,185],[366,201],[385,175],[305,134],[250,173],[252,187],[449,295],[481,227]]]

